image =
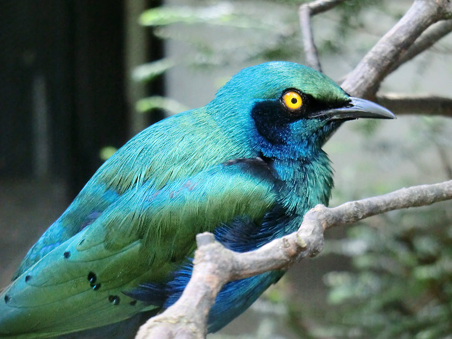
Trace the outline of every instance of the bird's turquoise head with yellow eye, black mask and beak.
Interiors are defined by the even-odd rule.
[[[267,156],[320,149],[347,120],[395,118],[372,101],[351,97],[320,72],[291,62],[241,70],[210,104],[223,122],[232,117],[228,125],[236,133],[252,132],[249,139],[257,140],[256,146]]]

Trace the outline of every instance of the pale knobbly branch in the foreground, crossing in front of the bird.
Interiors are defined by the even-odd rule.
[[[317,205],[305,214],[297,232],[246,253],[224,248],[210,233],[197,235],[193,273],[182,296],[141,326],[136,338],[204,338],[209,309],[225,283],[271,270],[286,270],[302,258],[316,256],[323,248],[323,231],[333,226],[448,199],[452,199],[452,180],[402,188],[333,208]]]

